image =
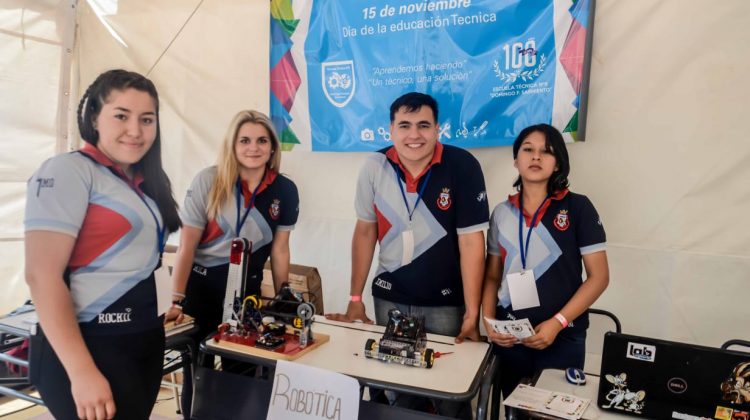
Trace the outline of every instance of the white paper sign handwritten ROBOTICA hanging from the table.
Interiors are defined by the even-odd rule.
[[[359,382],[329,370],[279,360],[267,420],[359,418]]]

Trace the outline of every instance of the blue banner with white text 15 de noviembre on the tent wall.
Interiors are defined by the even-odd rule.
[[[285,149],[390,144],[389,107],[439,104],[441,141],[583,140],[594,0],[274,0],[271,113]]]

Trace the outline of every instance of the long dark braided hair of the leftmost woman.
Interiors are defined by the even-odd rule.
[[[156,139],[151,148],[133,165],[143,174],[141,189],[151,197],[159,207],[164,225],[169,232],[180,228],[180,216],[177,213],[177,202],[172,193],[169,181],[161,162],[161,124],[159,124],[159,95],[154,84],[144,76],[125,70],[110,70],[99,75],[94,83],[86,89],[78,104],[78,131],[81,138],[93,146],[99,142],[99,132],[94,128],[94,121],[99,116],[103,104],[113,90],[135,89],[148,93],[156,106]]]

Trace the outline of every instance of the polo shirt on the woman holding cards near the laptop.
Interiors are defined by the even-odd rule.
[[[534,270],[540,306],[514,311],[510,301],[508,273],[521,271],[518,242],[519,194],[495,207],[487,236],[487,253],[503,259],[503,281],[498,290],[497,319],[529,318],[532,325],[552,318],[581,286],[581,257],[604,251],[604,227],[591,201],[567,189],[547,200],[531,233],[526,269]],[[526,241],[532,215],[523,212]],[[572,321],[567,333],[588,328],[588,313]]]

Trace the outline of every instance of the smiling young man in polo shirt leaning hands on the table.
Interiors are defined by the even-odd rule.
[[[391,105],[393,146],[371,156],[357,183],[351,301],[329,318],[372,323],[362,291],[375,244],[375,320],[388,310],[424,315],[430,333],[478,340],[489,209],[479,162],[438,141],[438,106],[422,93]]]

